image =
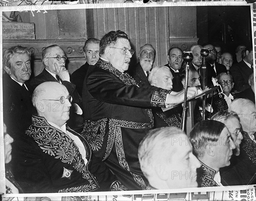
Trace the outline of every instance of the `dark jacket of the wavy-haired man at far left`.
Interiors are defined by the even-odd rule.
[[[25,85],[29,91],[3,74],[3,121],[12,137],[25,132],[35,111],[31,102],[32,87],[28,82]]]

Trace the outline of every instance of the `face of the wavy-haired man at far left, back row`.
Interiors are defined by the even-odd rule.
[[[14,54],[11,58],[11,68],[7,73],[17,82],[24,83],[31,75],[30,57],[28,54]]]

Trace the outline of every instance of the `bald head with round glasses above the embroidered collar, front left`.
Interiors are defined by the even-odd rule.
[[[39,116],[59,127],[69,119],[69,93],[67,88],[58,82],[43,82],[38,85],[32,94],[32,103]]]

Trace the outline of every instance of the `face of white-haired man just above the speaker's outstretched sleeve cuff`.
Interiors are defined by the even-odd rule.
[[[161,69],[155,75],[155,86],[163,89],[172,89],[172,73],[169,69]]]

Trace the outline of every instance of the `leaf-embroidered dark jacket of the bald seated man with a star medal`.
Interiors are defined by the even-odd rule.
[[[87,192],[99,189],[99,184],[103,184],[101,190],[120,186],[109,169],[103,175],[97,172],[105,166],[102,161],[92,161],[87,141],[68,127],[67,131],[83,143],[87,164],[66,133],[49,125],[44,117],[32,117],[32,125],[18,144],[20,155],[15,158],[14,175],[24,193]]]

